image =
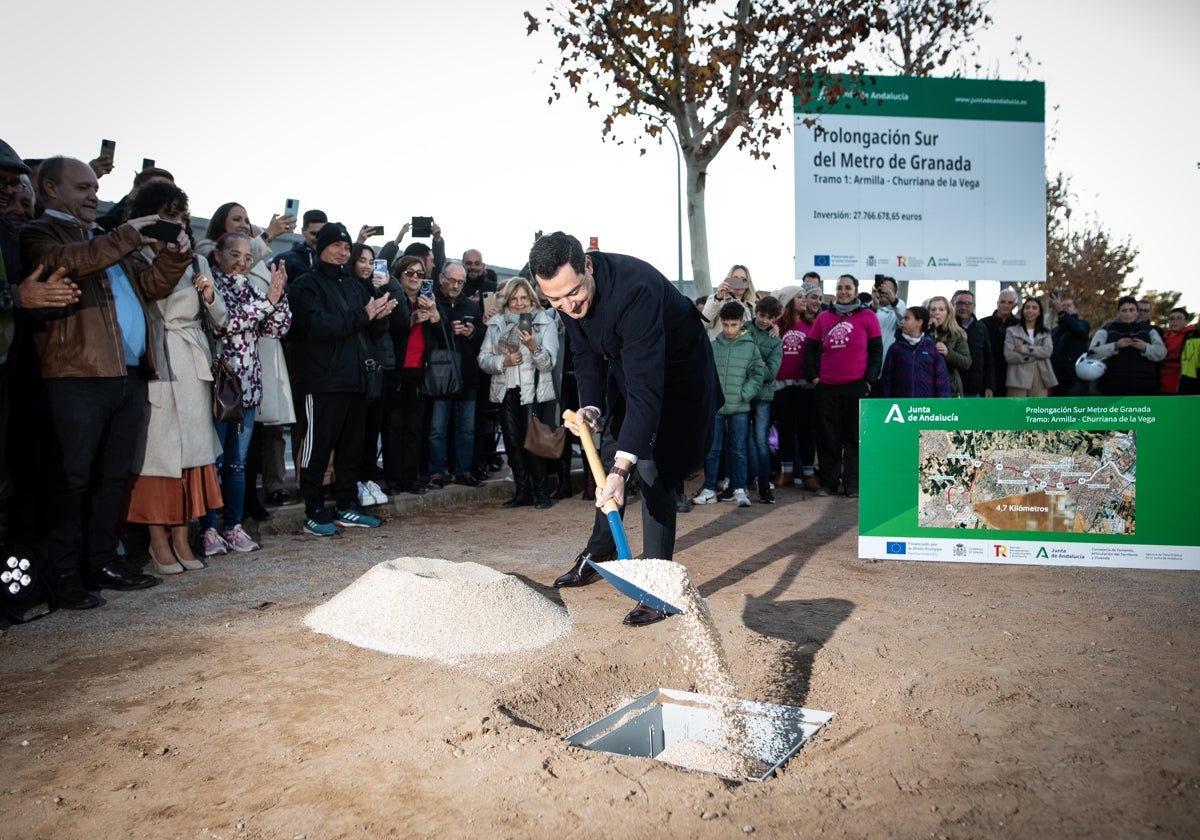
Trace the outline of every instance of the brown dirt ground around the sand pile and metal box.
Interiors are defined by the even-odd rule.
[[[860,560],[852,503],[779,496],[680,516],[676,558],[740,696],[835,714],[774,779],[569,746],[690,686],[680,623],[623,628],[607,584],[548,586],[589,528],[577,496],[476,496],[336,540],[268,533],[257,554],[8,628],[0,835],[1196,836],[1200,575]],[[397,556],[517,575],[572,632],[463,668],[302,625]]]

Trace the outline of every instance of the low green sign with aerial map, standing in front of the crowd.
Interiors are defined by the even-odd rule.
[[[864,558],[1198,569],[1200,397],[864,400]]]

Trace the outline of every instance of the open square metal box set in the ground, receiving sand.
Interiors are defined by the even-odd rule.
[[[566,740],[614,755],[664,755],[660,761],[667,761],[667,751],[677,758],[668,763],[762,781],[832,718],[832,712],[797,706],[655,689]],[[691,757],[679,761],[684,755]]]

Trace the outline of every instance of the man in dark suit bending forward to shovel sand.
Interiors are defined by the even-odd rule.
[[[612,499],[624,512],[625,481],[642,479],[642,556],[672,559],[676,536],[674,487],[695,469],[713,440],[721,388],[713,348],[690,300],[653,265],[634,257],[592,251],[562,232],[539,239],[529,270],[563,324],[575,360],[581,420],[600,428],[606,384],[624,402],[616,432],[617,455],[604,487],[596,488],[592,539],[556,587],[583,586],[595,571],[584,560],[611,560],[616,545],[599,510]],[[574,430],[572,430],[574,431]],[[666,618],[638,605],[625,624]]]

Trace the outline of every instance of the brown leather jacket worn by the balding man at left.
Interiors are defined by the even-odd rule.
[[[42,361],[42,377],[124,377],[125,350],[116,322],[116,301],[104,272],[121,264],[133,293],[142,304],[169,295],[191,264],[191,253],[162,251],[148,266],[131,260],[142,248],[142,234],[130,224],[88,239],[88,228],[78,220],[46,215],[20,229],[22,259],[25,265],[65,268],[79,286],[79,302],[61,310],[41,311],[48,318],[34,329],[34,342]],[[150,322],[145,319],[149,334]],[[156,376],[154,350],[146,344],[143,373]]]

